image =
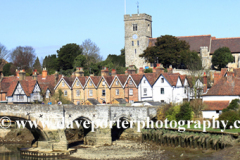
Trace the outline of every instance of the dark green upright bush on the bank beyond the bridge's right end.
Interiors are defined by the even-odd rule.
[[[183,103],[180,106],[180,112],[176,114],[176,120],[191,120],[192,118],[192,108],[190,106],[190,103]]]

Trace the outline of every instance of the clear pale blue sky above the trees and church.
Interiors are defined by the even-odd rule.
[[[240,37],[237,0],[126,0],[126,14],[152,16],[153,37]],[[32,46],[41,59],[91,39],[103,58],[124,48],[124,0],[0,0],[0,43]]]

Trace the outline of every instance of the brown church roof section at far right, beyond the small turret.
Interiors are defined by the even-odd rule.
[[[212,38],[211,52],[221,47],[228,47],[232,53],[240,52],[240,37],[235,38]]]

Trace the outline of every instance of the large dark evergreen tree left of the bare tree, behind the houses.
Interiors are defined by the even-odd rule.
[[[59,50],[57,50],[58,53],[58,70],[68,70],[73,69],[73,62],[74,59],[82,54],[82,48],[75,44],[75,43],[69,43],[64,46],[62,46]]]

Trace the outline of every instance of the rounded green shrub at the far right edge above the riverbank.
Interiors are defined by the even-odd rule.
[[[233,126],[234,122],[239,119],[240,119],[239,113],[233,110],[223,112],[218,118],[219,121],[224,120],[225,123],[226,121],[228,121],[226,127],[227,129],[229,129],[230,126],[234,127]],[[222,123],[220,123],[220,127],[223,128]]]

